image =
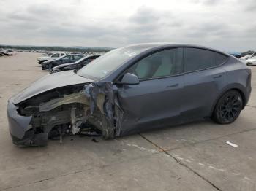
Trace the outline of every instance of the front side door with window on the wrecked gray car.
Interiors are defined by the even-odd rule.
[[[162,50],[127,69],[138,85],[119,85],[118,101],[124,109],[121,134],[179,122],[184,86],[182,48]]]

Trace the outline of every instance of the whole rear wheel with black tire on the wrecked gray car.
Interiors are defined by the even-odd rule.
[[[219,124],[234,122],[243,106],[243,99],[237,90],[229,90],[217,101],[211,119]]]

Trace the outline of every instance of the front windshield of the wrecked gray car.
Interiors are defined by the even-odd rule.
[[[148,47],[121,47],[111,50],[80,69],[78,75],[102,79],[146,49]]]

